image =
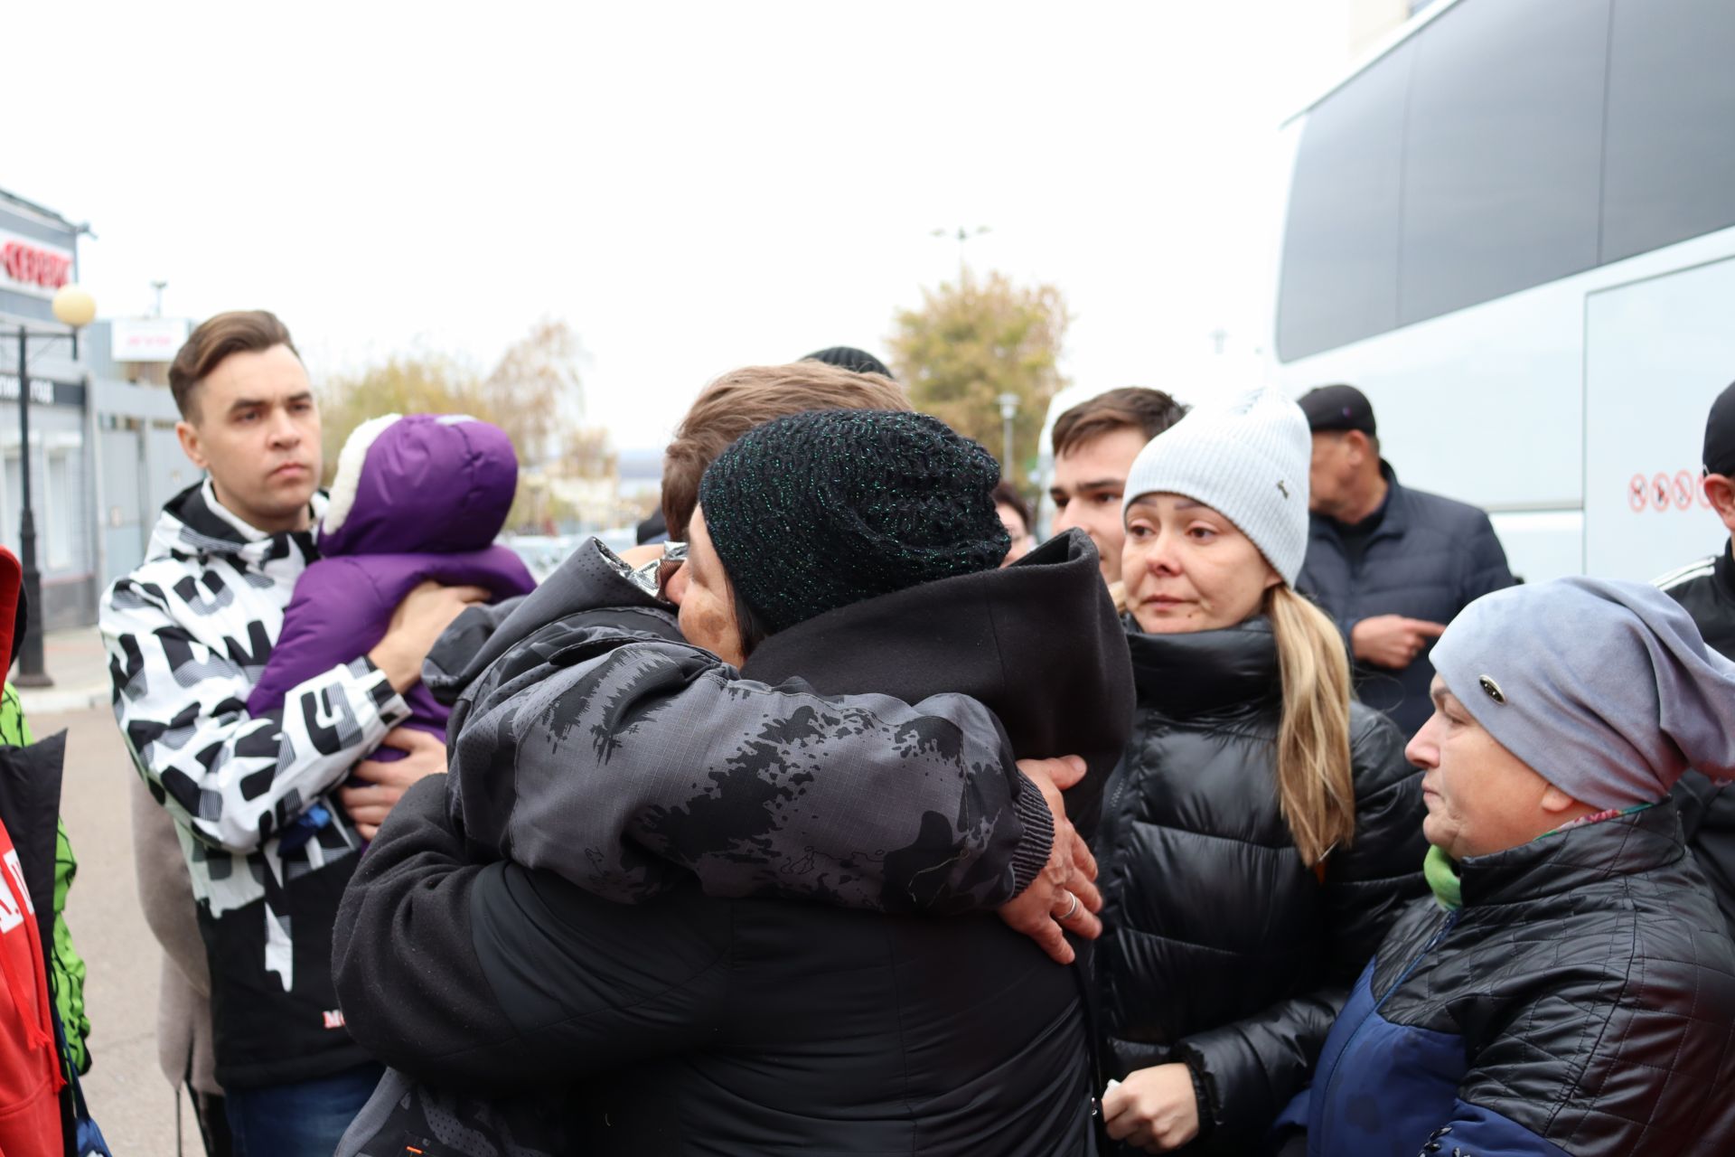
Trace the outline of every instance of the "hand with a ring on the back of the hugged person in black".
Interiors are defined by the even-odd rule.
[[[1097,892],[1097,857],[1090,845],[1072,829],[1067,805],[1060,793],[1084,779],[1084,760],[1069,755],[1060,760],[1018,760],[1018,770],[1034,782],[1048,810],[1055,814],[1055,843],[1048,848],[1048,864],[1031,881],[1031,886],[999,905],[999,918],[1015,931],[1036,940],[1044,952],[1062,964],[1070,964],[1077,952],[1067,944],[1067,931],[1086,940],[1102,935],[1102,893]]]

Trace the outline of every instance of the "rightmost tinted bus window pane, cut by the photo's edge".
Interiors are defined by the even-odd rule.
[[[1605,262],[1735,226],[1735,3],[1615,0]]]

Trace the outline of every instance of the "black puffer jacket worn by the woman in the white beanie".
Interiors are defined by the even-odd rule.
[[[1128,640],[1138,711],[1109,781],[1097,945],[1112,1075],[1202,1079],[1188,1154],[1244,1154],[1305,1084],[1350,984],[1421,876],[1421,772],[1350,706],[1355,840],[1301,862],[1277,805],[1282,706],[1267,619]]]

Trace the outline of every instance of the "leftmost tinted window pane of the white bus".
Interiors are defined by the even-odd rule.
[[[1411,45],[1308,116],[1296,151],[1277,295],[1284,361],[1398,324],[1398,177]]]

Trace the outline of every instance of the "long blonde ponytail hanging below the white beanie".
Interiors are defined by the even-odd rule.
[[[1284,713],[1277,729],[1277,800],[1308,867],[1355,836],[1350,774],[1350,659],[1336,624],[1287,586],[1265,612],[1277,637]]]

